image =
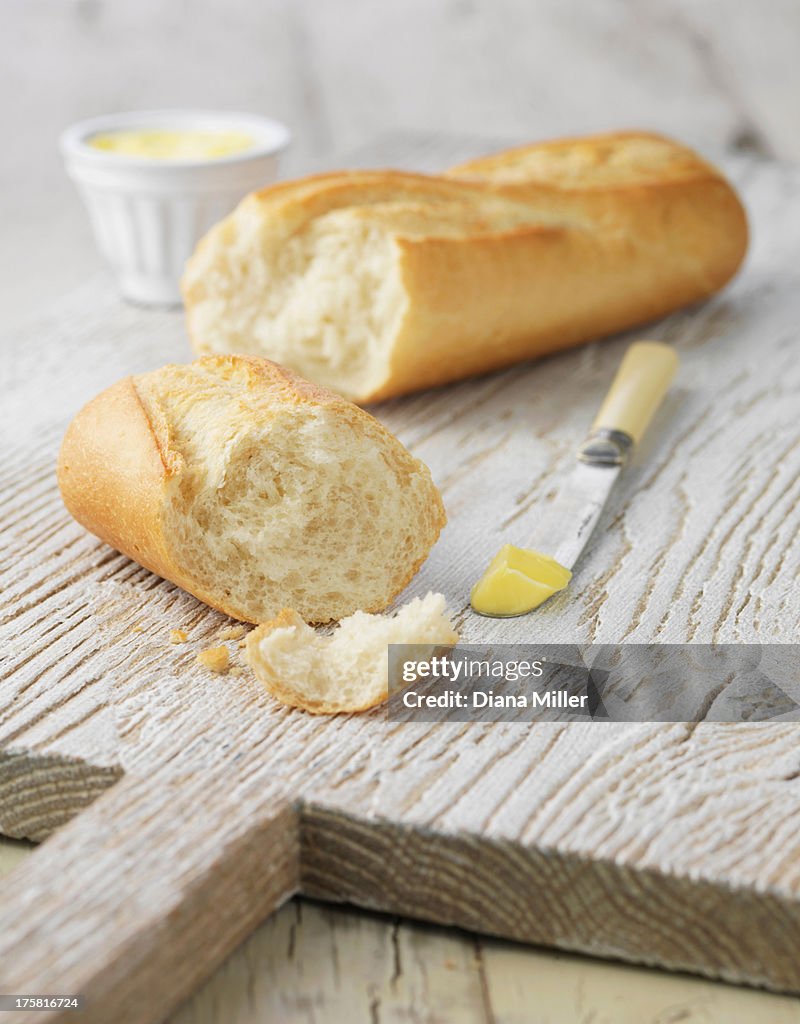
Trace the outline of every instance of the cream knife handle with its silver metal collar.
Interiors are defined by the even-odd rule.
[[[584,462],[620,465],[644,436],[678,369],[675,349],[661,341],[637,341],[617,376],[580,452]]]

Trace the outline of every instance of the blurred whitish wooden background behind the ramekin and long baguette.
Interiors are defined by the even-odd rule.
[[[110,111],[272,114],[292,174],[402,132],[640,126],[800,160],[797,0],[4,0],[0,16],[6,323],[97,265],[55,139]]]

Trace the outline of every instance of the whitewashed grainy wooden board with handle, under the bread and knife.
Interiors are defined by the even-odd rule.
[[[408,594],[444,590],[465,639],[797,639],[800,173],[731,171],[748,266],[648,332],[678,346],[678,388],[536,616],[475,620],[469,584],[501,536],[535,541],[630,339],[375,410],[451,518]],[[0,889],[0,988],[157,1020],[300,889],[800,990],[797,726],[319,720],[209,677],[194,656],[227,621],[85,535],[52,475],[83,400],[187,357],[180,316],[90,283],[6,344],[0,829],[91,806]]]

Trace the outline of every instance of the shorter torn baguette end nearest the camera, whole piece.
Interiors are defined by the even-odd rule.
[[[108,544],[236,618],[384,608],[445,523],[377,420],[266,359],[129,377],[67,431],[58,484]]]

